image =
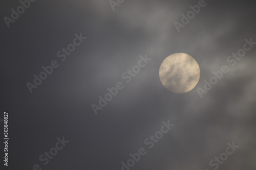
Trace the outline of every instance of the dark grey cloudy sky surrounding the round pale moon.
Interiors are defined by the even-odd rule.
[[[131,170],[211,170],[210,160],[234,142],[239,148],[218,169],[255,170],[256,45],[236,65],[227,62],[245,39],[256,42],[255,3],[206,0],[178,32],[174,22],[198,2],[124,0],[113,11],[108,0],[35,1],[8,28],[4,17],[20,3],[1,1],[0,119],[8,112],[10,138],[4,168],[120,170],[145,148]],[[80,33],[87,39],[61,61],[57,52]],[[199,83],[187,93],[172,93],[159,79],[160,64],[174,53],[200,66]],[[140,55],[152,60],[127,83],[122,74]],[[26,84],[54,60],[59,66],[30,93]],[[197,88],[223,65],[229,71],[200,98]],[[92,104],[117,82],[124,87],[95,115]],[[148,149],[144,140],[168,120],[175,126]],[[70,142],[44,165],[39,156],[62,136]]]

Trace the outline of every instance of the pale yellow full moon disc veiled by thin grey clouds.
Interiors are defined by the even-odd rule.
[[[175,53],[163,60],[159,68],[159,77],[169,91],[185,93],[196,87],[200,79],[200,67],[193,57]]]

